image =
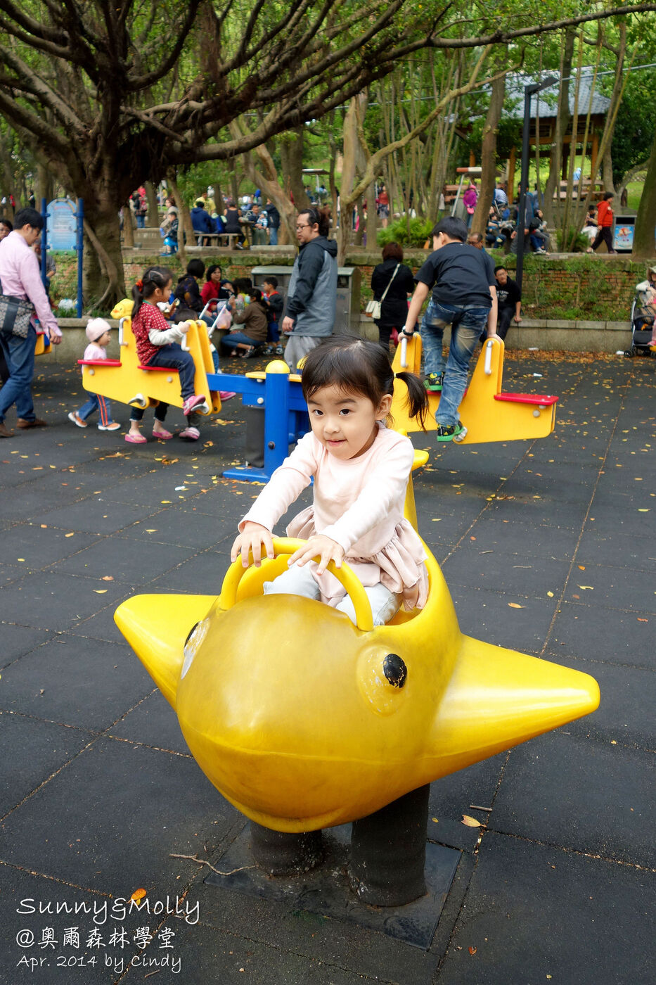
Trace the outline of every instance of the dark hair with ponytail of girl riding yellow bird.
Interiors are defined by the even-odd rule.
[[[380,343],[357,335],[334,335],[305,358],[300,382],[305,400],[324,386],[338,386],[360,393],[377,407],[385,394],[394,393],[394,378],[389,357]],[[410,417],[418,418],[425,429],[428,396],[424,383],[413,372],[396,373],[396,378],[408,387]]]

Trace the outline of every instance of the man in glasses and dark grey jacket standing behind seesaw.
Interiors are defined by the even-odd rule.
[[[332,335],[337,304],[337,243],[328,239],[328,217],[304,209],[296,219],[298,255],[287,297],[285,359],[293,372],[321,339]]]

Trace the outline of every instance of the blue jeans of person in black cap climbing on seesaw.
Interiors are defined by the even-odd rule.
[[[430,299],[422,319],[426,375],[444,373],[439,408],[435,415],[440,425],[450,427],[458,420],[458,408],[467,387],[467,373],[479,336],[490,314],[489,307],[480,304],[445,304]],[[444,366],[442,338],[444,329],[451,326],[449,357]]]

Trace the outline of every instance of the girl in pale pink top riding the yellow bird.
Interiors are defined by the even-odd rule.
[[[411,417],[424,424],[426,389],[414,373],[397,373],[408,387]],[[262,546],[273,558],[272,531],[299,493],[314,479],[314,504],[295,517],[290,537],[307,543],[265,594],[320,599],[356,622],[342,584],[326,566],[347,560],[371,604],[374,625],[404,607],[426,605],[426,553],[404,519],[406,487],[413,467],[409,438],[386,427],[394,373],[383,348],[361,338],[327,339],[307,356],[301,385],[311,431],[276,469],[238,526],[230,559],[252,552],[259,566]],[[320,557],[318,562],[312,558]]]

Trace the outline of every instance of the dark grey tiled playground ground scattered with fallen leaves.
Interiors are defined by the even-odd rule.
[[[135,592],[219,589],[257,493],[221,479],[241,407],[196,445],[129,446],[70,425],[77,372],[39,361],[50,427],[0,447],[0,982],[654,980],[656,362],[530,355],[506,361],[506,386],[558,393],[556,432],[433,445],[416,480],[421,530],[465,632],[593,674],[602,703],[433,784],[429,838],[461,855],[427,951],[205,886],[206,867],[171,857],[221,869],[244,822],[112,614]],[[121,919],[118,900],[140,887],[178,915]],[[78,913],[57,914],[64,902]]]

